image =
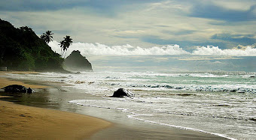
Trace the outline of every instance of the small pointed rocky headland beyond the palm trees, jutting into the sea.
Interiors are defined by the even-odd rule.
[[[92,65],[79,51],[73,51],[64,61],[64,68],[72,71],[93,71]]]

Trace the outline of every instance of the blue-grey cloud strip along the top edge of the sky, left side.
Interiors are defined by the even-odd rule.
[[[153,0],[130,0],[130,1],[119,1],[119,0],[1,0],[0,10],[9,11],[43,11],[43,10],[61,10],[61,9],[72,9],[76,7],[87,7],[93,9],[95,12],[101,14],[114,14],[122,10],[122,7],[130,4],[143,4]],[[118,9],[118,10],[117,10]],[[116,11],[117,10],[117,11]],[[105,11],[105,13],[102,13]]]

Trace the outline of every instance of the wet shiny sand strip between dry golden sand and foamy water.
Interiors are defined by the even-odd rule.
[[[11,77],[11,80],[15,80],[15,77]],[[20,81],[19,79],[17,80]],[[33,82],[29,80],[23,80],[23,82],[30,84],[32,83],[32,85],[34,83],[36,85],[38,85],[38,83],[42,83],[43,85],[49,85],[49,83],[46,81]],[[94,99],[94,97],[90,95],[88,97],[88,94],[84,94],[84,92],[81,90],[76,90],[73,88],[60,88],[61,86],[59,85],[62,84],[65,83],[56,84],[53,82],[53,87],[46,88],[46,92],[43,91],[43,94],[45,94],[44,96],[50,97],[51,99],[54,99],[56,97],[62,97],[61,101],[44,99],[46,100],[46,102],[44,101],[43,103],[32,103],[35,100],[35,98],[32,97],[24,97],[26,98],[26,100],[17,100],[18,98],[12,100],[15,102],[15,104],[36,106],[39,108],[47,109],[56,109],[64,112],[75,112],[84,116],[89,115],[108,122],[112,122],[112,124],[109,127],[105,127],[102,130],[94,132],[90,139],[225,139],[223,137],[213,136],[207,133],[199,133],[190,130],[181,130],[157,124],[148,124],[143,121],[136,121],[127,118],[126,114],[122,112],[117,113],[112,110],[96,109],[90,107],[86,108],[84,106],[72,105],[67,102],[69,100],[79,100],[82,98],[88,99],[92,97]],[[38,91],[36,92],[37,94],[41,94],[40,90],[41,89],[37,89],[35,91]],[[31,95],[37,96],[36,94]],[[32,99],[27,100],[27,98]]]

